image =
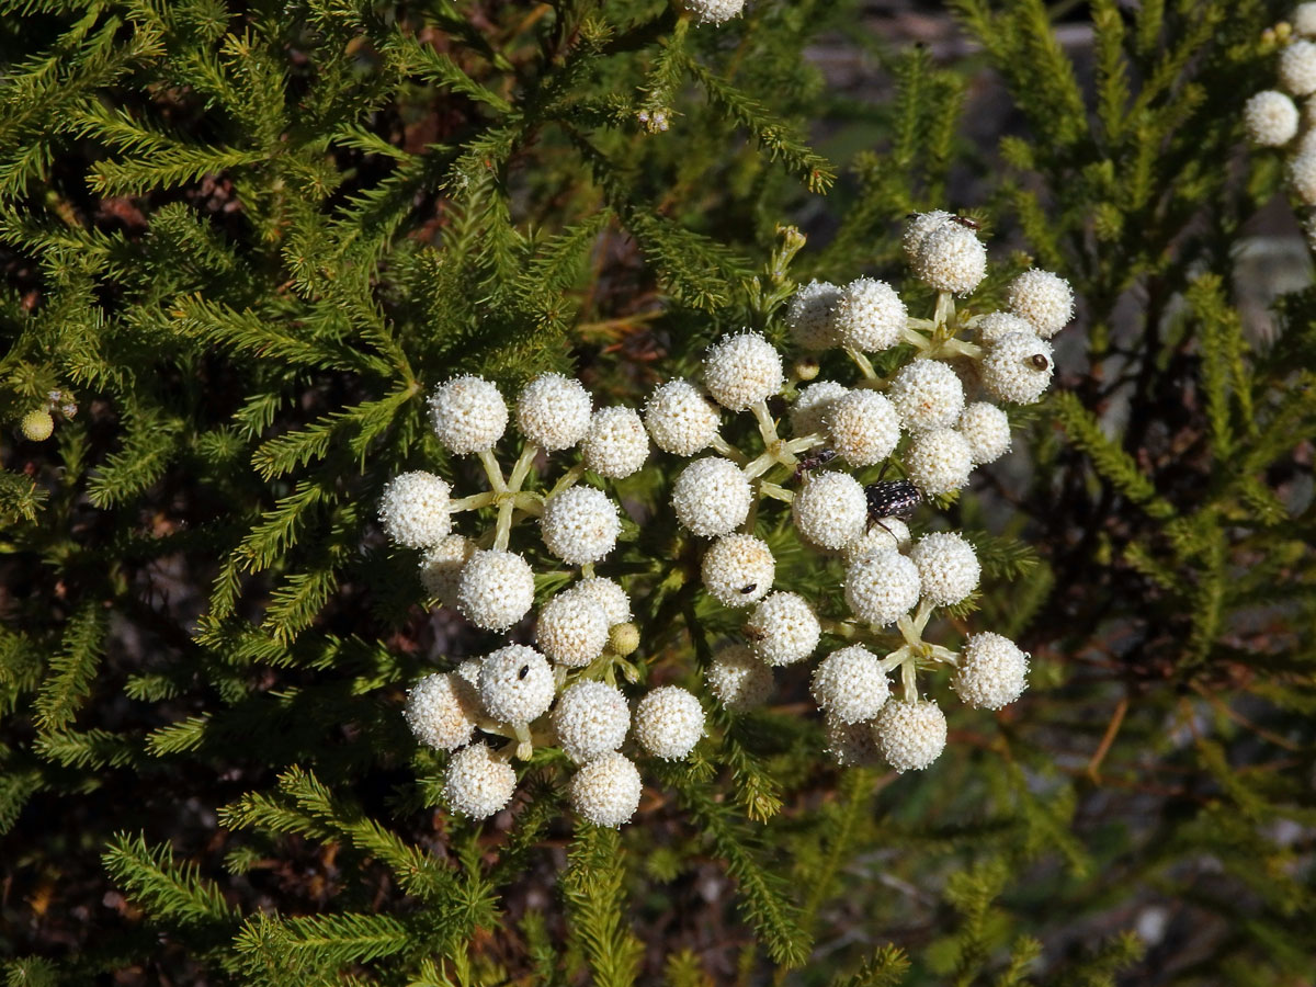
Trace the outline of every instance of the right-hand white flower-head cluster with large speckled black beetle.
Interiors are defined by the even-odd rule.
[[[913,537],[905,524],[921,497],[962,490],[975,467],[1009,451],[1009,416],[1000,404],[1041,397],[1054,375],[1049,341],[1074,318],[1069,283],[1037,268],[1004,286],[999,309],[975,311],[965,297],[987,274],[976,230],[945,211],[911,217],[905,255],[938,292],[932,318],[915,317],[900,292],[875,278],[799,287],[783,313],[791,341],[811,354],[842,350],[858,379],[813,379],[819,361],[811,358],[796,365],[795,386],[767,338],[744,330],[708,349],[701,384],[661,384],[645,408],[653,442],[691,457],[672,484],[671,509],[688,536],[707,540],[696,542],[704,590],[746,612],[744,642],[721,646],[705,671],[712,699],[734,713],[753,711],[771,700],[775,670],[795,675],[791,669],[811,665],[821,645],[811,691],[841,765],[884,762],[907,771],[936,761],[946,719],[917,687],[919,675],[934,667],[949,667],[954,691],[975,708],[999,709],[1026,686],[1026,655],[998,634],[971,634],[958,653],[924,638],[938,609],[962,608],[958,616],[971,607],[982,565],[963,536]],[[869,354],[886,354],[887,376]],[[780,399],[784,415],[772,403]],[[762,447],[729,441],[747,430],[724,434],[722,412],[751,412]],[[904,479],[884,486],[892,461]],[[855,470],[871,470],[869,486]],[[774,546],[759,537],[771,500],[790,503],[801,546],[844,562],[840,592],[822,601],[825,619],[780,586]],[[840,620],[832,616],[842,608]],[[845,645],[829,645],[833,636]],[[637,709],[637,737],[649,753],[683,755],[678,724],[696,738],[701,711],[690,694],[661,692]],[[650,712],[658,709],[665,717]],[[646,740],[654,721],[667,724],[665,744]]]

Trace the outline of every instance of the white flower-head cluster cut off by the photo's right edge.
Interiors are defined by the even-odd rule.
[[[1288,21],[1263,32],[1262,45],[1278,54],[1277,87],[1244,104],[1244,130],[1258,147],[1284,151],[1290,187],[1303,205],[1316,207],[1316,7],[1299,4]],[[1307,240],[1316,249],[1313,230]]]

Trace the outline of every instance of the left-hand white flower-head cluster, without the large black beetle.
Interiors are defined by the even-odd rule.
[[[780,357],[762,337],[741,334],[717,354],[705,383],[725,403],[757,403],[780,390]],[[621,515],[604,490],[580,480],[587,472],[604,482],[633,475],[649,458],[650,437],[665,451],[705,449],[717,440],[717,408],[694,384],[676,380],[650,399],[642,418],[630,408],[596,409],[580,382],[542,374],[509,413],[492,382],[467,374],[438,384],[429,411],[449,453],[479,458],[488,490],[455,497],[449,480],[421,470],[386,484],[380,524],[395,545],[421,550],[425,592],[471,624],[503,632],[534,608],[532,562],[582,571],[540,605],[533,647],[507,644],[453,671],[425,675],[408,691],[403,716],[417,741],[447,751],[443,800],[454,812],[484,819],[507,808],[517,784],[513,762],[529,758],[537,746],[555,746],[578,766],[567,786],[576,812],[595,825],[619,826],[634,815],[642,791],[640,769],[622,749],[630,744],[637,755],[687,757],[704,733],[704,713],[692,694],[665,686],[640,697],[632,722],[630,700],[616,676],[637,679],[626,655],[640,645],[640,632],[622,587],[594,572],[616,547]],[[511,420],[524,445],[504,470],[497,446]],[[555,482],[549,474],[542,492],[524,488],[545,457],[571,450],[579,459]],[[749,509],[747,480],[734,463],[728,466],[732,486],[745,487],[744,505],[721,505],[729,524],[719,519],[717,504],[712,517],[692,508],[691,524],[700,532],[730,532]],[[454,532],[453,521],[463,512],[487,520],[484,530]],[[512,529],[536,519],[538,544],[513,547]],[[755,587],[762,583],[749,594],[742,594],[744,583],[728,587],[749,605],[771,590],[772,574],[771,553],[728,541],[724,566],[715,565],[709,579],[744,575]],[[749,696],[751,688],[744,691]]]

